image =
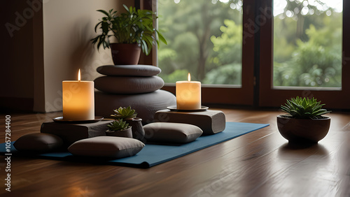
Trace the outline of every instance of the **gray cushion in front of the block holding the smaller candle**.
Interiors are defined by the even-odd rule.
[[[190,143],[203,133],[192,124],[153,122],[144,126],[145,139],[156,143]]]

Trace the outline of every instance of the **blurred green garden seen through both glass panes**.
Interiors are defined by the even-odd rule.
[[[160,77],[241,85],[242,5],[158,0]],[[274,86],[341,87],[342,0],[274,0],[273,13]]]

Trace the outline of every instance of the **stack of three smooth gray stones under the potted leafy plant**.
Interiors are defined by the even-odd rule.
[[[106,118],[113,109],[132,106],[143,124],[153,122],[158,110],[176,105],[174,94],[161,90],[164,81],[157,75],[160,68],[150,65],[99,66],[97,72],[104,75],[94,80],[95,114]]]

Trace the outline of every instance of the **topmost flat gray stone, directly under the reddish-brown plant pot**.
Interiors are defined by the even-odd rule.
[[[144,76],[158,75],[162,71],[157,66],[150,65],[106,65],[99,66],[97,72],[109,76]]]

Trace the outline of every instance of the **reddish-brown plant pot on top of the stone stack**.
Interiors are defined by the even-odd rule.
[[[138,44],[112,43],[110,46],[114,65],[139,64],[141,48]]]

